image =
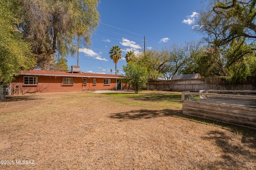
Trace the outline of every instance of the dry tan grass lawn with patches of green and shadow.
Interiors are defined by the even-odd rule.
[[[11,96],[0,102],[0,160],[11,170],[255,170],[256,132],[182,115],[181,93]]]

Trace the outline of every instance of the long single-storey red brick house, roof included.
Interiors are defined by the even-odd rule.
[[[10,83],[12,95],[94,90],[127,89],[120,75],[30,70],[21,71]]]

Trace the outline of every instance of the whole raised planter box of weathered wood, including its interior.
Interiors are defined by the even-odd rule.
[[[182,113],[256,129],[256,96],[182,92]]]

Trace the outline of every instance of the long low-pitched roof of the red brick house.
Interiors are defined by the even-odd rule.
[[[121,75],[112,74],[97,74],[97,73],[70,73],[65,71],[49,71],[49,70],[29,70],[21,71],[20,75],[44,75],[44,76],[58,76],[58,77],[92,77],[92,78],[118,78],[122,79]]]

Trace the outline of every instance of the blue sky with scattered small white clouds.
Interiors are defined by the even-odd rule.
[[[127,51],[161,49],[172,43],[199,40],[193,31],[198,13],[206,6],[204,0],[101,0],[98,11],[100,24],[92,36],[92,45],[80,45],[79,65],[83,72],[115,74],[109,57],[113,45],[121,47],[123,58],[118,61],[118,74],[124,74]],[[68,57],[68,66],[77,65],[77,55]]]

